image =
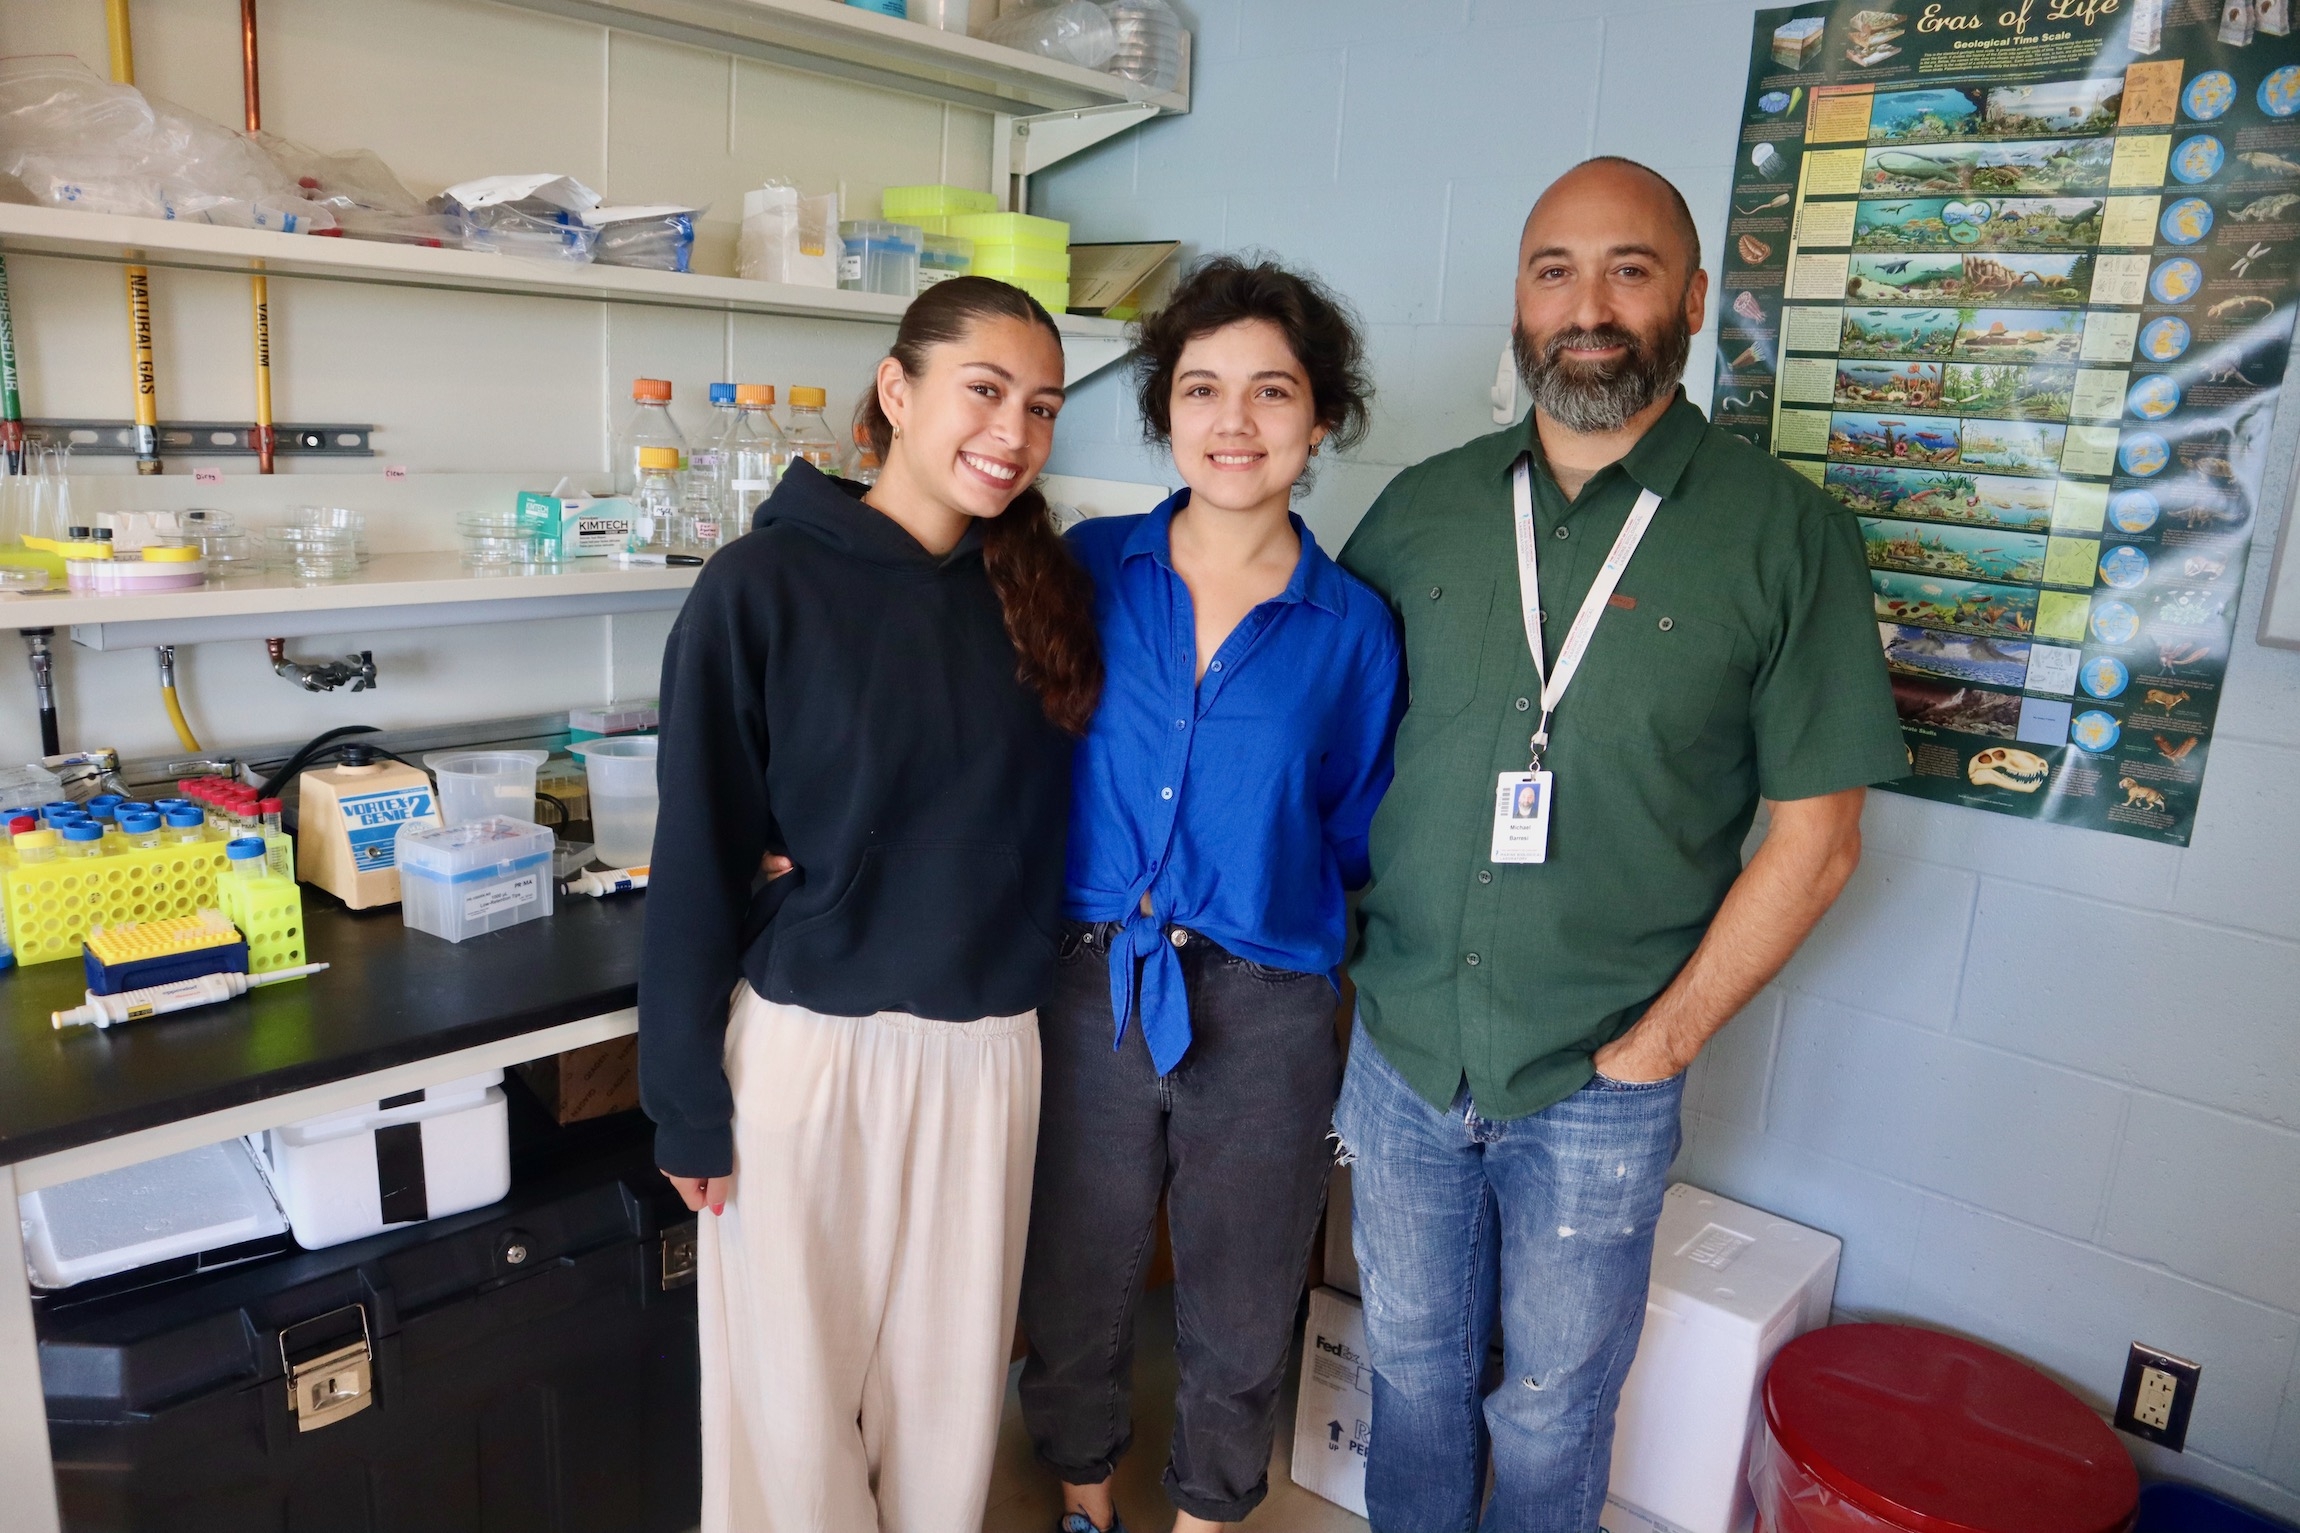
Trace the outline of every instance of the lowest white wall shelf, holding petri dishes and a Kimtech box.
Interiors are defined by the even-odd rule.
[[[299,586],[285,572],[147,595],[7,595],[0,630],[71,630],[83,648],[207,639],[306,639],[460,623],[524,623],[676,609],[695,568],[616,570],[603,558],[559,575],[474,575],[460,554],[377,554],[359,579]]]

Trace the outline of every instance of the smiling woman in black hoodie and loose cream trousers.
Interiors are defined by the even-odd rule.
[[[656,1163],[699,1246],[706,1533],[980,1526],[1037,1133],[1090,593],[1033,480],[1063,345],[941,283],[662,655],[639,972]]]

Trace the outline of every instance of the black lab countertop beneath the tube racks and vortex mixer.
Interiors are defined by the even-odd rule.
[[[538,922],[444,942],[400,908],[304,887],[322,975],[110,1030],[57,1032],[78,958],[0,972],[0,1163],[409,1064],[637,1004],[644,894],[561,899]]]

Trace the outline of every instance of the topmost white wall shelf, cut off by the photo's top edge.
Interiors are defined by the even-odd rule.
[[[982,113],[1021,115],[1122,101],[1155,106],[1162,113],[1189,110],[1187,46],[1182,83],[1171,92],[1157,92],[1099,69],[1081,69],[961,32],[941,32],[915,21],[879,16],[837,0],[497,2],[860,80]]]

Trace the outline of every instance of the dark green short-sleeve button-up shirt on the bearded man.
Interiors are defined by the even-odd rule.
[[[1557,655],[1640,490],[1661,496],[1550,719],[1543,864],[1495,864],[1495,784],[1541,687],[1518,614],[1511,467],[1534,460]],[[1741,871],[1757,800],[1909,770],[1854,517],[1684,398],[1566,501],[1532,421],[1403,471],[1341,563],[1405,630],[1412,690],[1352,961],[1366,1030],[1428,1103],[1578,1092],[1677,977]]]

